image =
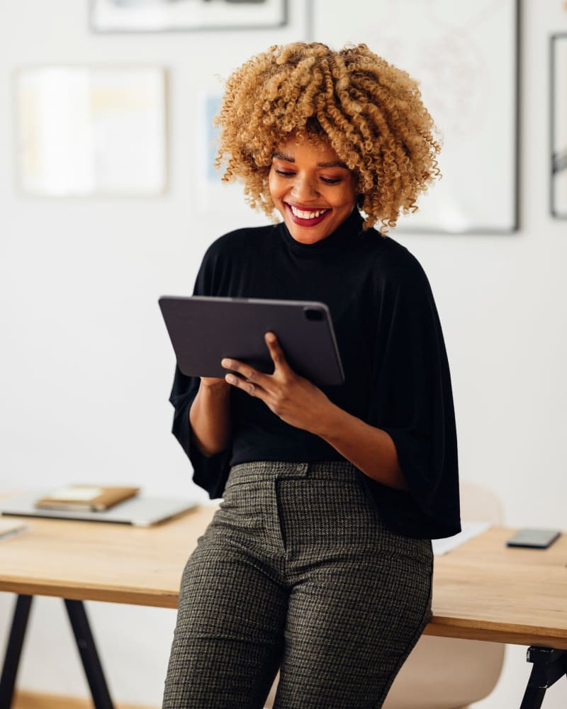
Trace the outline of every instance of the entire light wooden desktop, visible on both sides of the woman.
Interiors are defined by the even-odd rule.
[[[0,539],[0,591],[176,608],[215,509],[149,528],[20,518],[28,529]],[[435,557],[427,635],[567,649],[567,535],[549,549],[511,549],[513,531],[493,527]]]

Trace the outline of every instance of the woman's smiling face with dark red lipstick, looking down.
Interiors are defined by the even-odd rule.
[[[352,172],[327,143],[289,138],[274,152],[268,184],[289,233],[302,244],[327,238],[357,202]]]

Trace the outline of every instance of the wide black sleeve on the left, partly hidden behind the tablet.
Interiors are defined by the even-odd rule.
[[[217,295],[213,292],[216,290],[215,282],[218,281],[218,274],[215,274],[218,269],[215,266],[215,259],[209,251],[203,258],[197,274],[193,295]],[[189,425],[189,409],[197,395],[200,383],[198,376],[186,376],[176,366],[172,392],[169,396],[169,401],[175,409],[172,433],[193,466],[193,482],[205,489],[213,499],[223,495],[230,470],[232,442],[229,442],[225,450],[220,453],[206,456],[198,450],[193,441]]]

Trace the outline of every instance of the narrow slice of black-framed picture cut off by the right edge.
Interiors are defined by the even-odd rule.
[[[551,37],[551,214],[567,219],[567,34]]]

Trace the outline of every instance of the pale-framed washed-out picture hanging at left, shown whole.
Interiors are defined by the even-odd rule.
[[[14,92],[23,193],[152,196],[167,188],[164,69],[26,68]]]

